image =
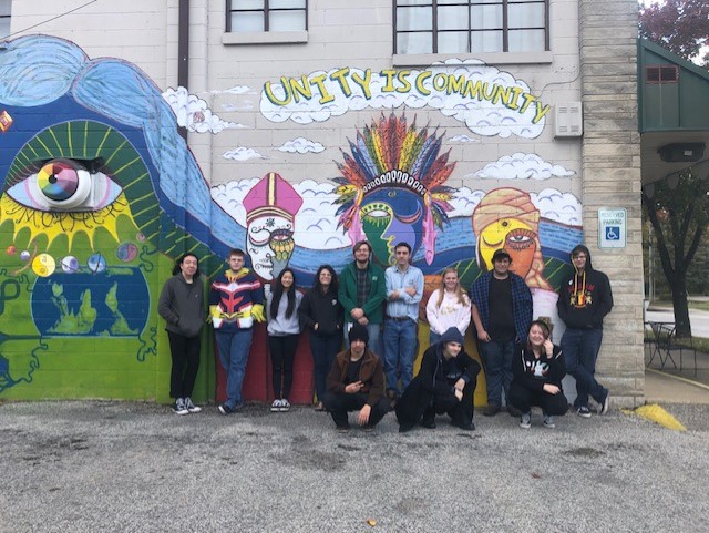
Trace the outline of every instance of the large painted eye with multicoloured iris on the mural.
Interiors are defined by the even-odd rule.
[[[51,160],[34,174],[8,188],[8,195],[38,211],[100,211],[111,205],[121,187],[102,172],[90,173],[74,160]]]

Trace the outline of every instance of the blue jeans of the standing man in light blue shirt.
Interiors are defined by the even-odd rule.
[[[417,322],[408,320],[384,321],[384,373],[387,390],[399,393],[413,379],[413,360],[417,356]],[[399,389],[399,370],[401,390]]]

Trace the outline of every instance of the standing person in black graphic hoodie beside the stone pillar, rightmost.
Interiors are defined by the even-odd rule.
[[[576,380],[574,408],[579,417],[589,418],[588,396],[598,402],[598,414],[608,411],[608,389],[596,381],[596,359],[603,340],[603,319],[613,309],[610,281],[590,264],[584,245],[571,253],[574,274],[559,288],[556,308],[566,325],[562,350],[566,371]]]

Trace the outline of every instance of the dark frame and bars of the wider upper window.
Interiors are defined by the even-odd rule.
[[[422,0],[425,1],[425,0]],[[544,27],[530,27],[530,28],[510,28],[508,24],[508,8],[510,4],[523,4],[523,3],[527,3],[524,0],[520,1],[515,1],[515,0],[499,0],[499,4],[502,6],[502,27],[501,28],[471,28],[472,21],[471,21],[471,8],[474,6],[494,6],[496,3],[490,3],[490,2],[484,2],[484,1],[480,1],[480,0],[460,0],[458,3],[439,3],[439,0],[430,0],[431,3],[430,4],[423,4],[423,3],[418,3],[418,2],[410,2],[410,3],[401,3],[399,4],[398,0],[394,0],[392,2],[392,20],[393,20],[393,24],[392,24],[392,45],[393,45],[393,54],[394,55],[399,55],[399,57],[405,57],[405,55],[425,55],[425,54],[445,54],[445,55],[453,55],[453,54],[499,54],[499,53],[513,53],[513,54],[517,54],[517,53],[541,53],[541,52],[549,52],[551,50],[551,35],[549,35],[549,27],[551,27],[551,20],[549,20],[549,0],[527,0],[528,3],[538,3],[538,4],[543,4],[544,6]],[[461,31],[461,30],[440,30],[439,29],[439,22],[438,22],[438,8],[441,6],[464,6],[467,8],[469,11],[469,21],[467,21],[467,49],[466,51],[459,51],[459,52],[439,52],[439,38],[441,33],[449,33],[449,32],[453,32],[453,31]],[[427,30],[427,31],[421,31],[421,30],[412,30],[412,31],[400,31],[398,29],[398,19],[397,19],[397,9],[400,7],[408,7],[408,8],[412,8],[412,7],[419,7],[419,8],[430,8],[431,9],[431,29]],[[475,51],[472,50],[472,39],[471,35],[474,32],[483,32],[483,31],[491,31],[491,30],[499,30],[502,31],[502,50],[499,51],[494,51],[494,52],[485,52],[485,51]],[[524,50],[524,51],[513,51],[510,52],[510,31],[516,31],[516,30],[543,30],[544,31],[544,50]],[[398,50],[398,37],[402,33],[425,33],[425,34],[430,34],[431,39],[432,39],[432,45],[431,45],[431,51],[429,52],[414,52],[411,54],[405,54],[402,52],[399,52]]]

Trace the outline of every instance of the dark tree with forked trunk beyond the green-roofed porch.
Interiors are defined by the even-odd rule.
[[[687,271],[709,222],[708,172],[709,163],[705,162],[643,187],[643,205],[655,229],[679,337],[691,335]]]

